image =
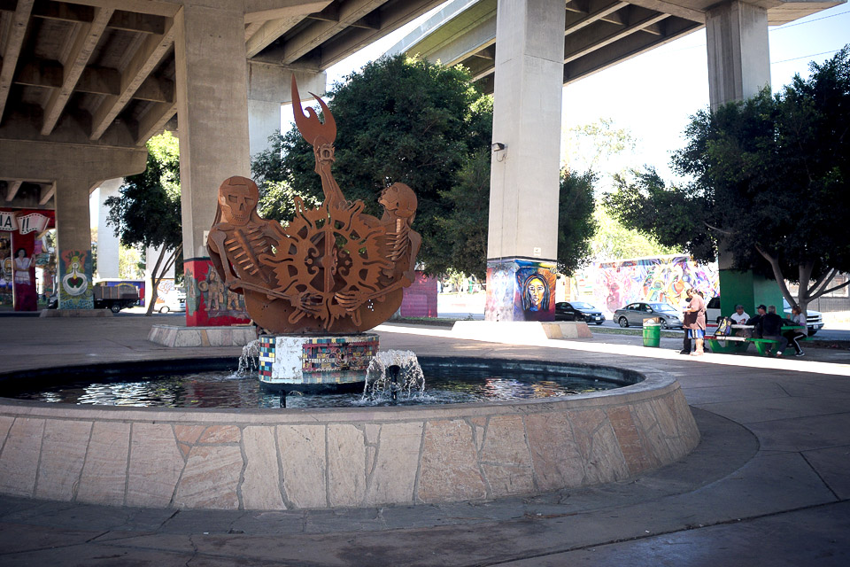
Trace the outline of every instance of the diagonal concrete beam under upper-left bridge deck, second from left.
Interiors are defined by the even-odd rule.
[[[106,24],[112,19],[114,12],[111,8],[96,8],[91,23],[83,24],[77,29],[71,49],[66,52],[65,60],[62,61],[65,77],[62,86],[53,90],[50,99],[44,105],[42,136],[49,136],[56,127],[59,116],[62,115],[65,105],[73,95],[73,89],[88,65],[89,58],[97,47],[97,43],[100,42],[101,36],[104,35]]]

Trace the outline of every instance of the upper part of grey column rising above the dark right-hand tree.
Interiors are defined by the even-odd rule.
[[[711,108],[758,94],[770,85],[768,11],[739,0],[706,12]]]

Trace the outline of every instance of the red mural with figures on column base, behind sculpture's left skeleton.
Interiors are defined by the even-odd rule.
[[[228,291],[211,260],[186,260],[183,274],[187,325],[227,326],[251,322],[244,296]]]

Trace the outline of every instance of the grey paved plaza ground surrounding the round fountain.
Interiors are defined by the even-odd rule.
[[[175,324],[177,318],[169,318]],[[236,355],[147,342],[161,318],[6,317],[4,370]],[[525,499],[281,512],[108,508],[0,497],[0,565],[841,565],[850,563],[850,351],[676,353],[639,337],[511,344],[411,325],[382,348],[663,369],[702,441],[622,483]]]

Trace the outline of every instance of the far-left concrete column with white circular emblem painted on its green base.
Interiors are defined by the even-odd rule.
[[[92,182],[56,182],[57,288],[59,309],[94,309],[89,192]]]

